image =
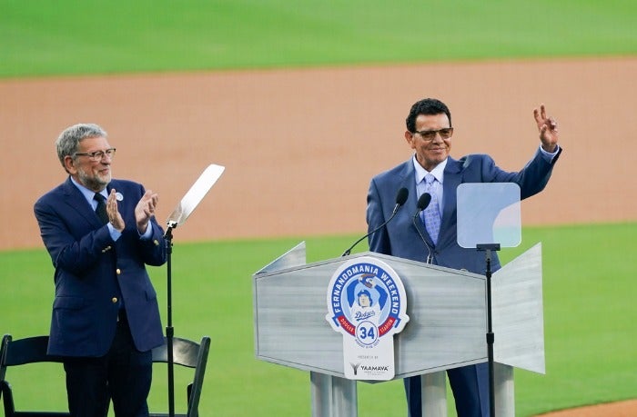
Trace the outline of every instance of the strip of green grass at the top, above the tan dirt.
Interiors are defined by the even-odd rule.
[[[0,0],[0,77],[634,55],[626,0]]]

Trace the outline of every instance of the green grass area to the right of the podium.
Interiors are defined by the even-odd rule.
[[[637,224],[525,232],[542,242],[547,374],[516,373],[520,415],[634,398]]]

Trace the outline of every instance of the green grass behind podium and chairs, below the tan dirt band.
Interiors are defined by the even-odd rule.
[[[637,392],[634,323],[637,223],[528,228],[519,248],[503,249],[503,263],[542,243],[547,374],[516,372],[516,410],[529,416],[551,409],[612,402]],[[339,256],[356,236],[311,237],[308,262]],[[297,416],[310,413],[309,375],[255,359],[252,273],[300,239],[179,243],[173,253],[173,325],[179,336],[212,338],[202,415]],[[355,252],[366,250],[359,245]],[[53,297],[52,266],[43,250],[0,253],[0,333],[47,333]],[[166,313],[166,268],[151,274]],[[37,365],[40,366],[40,365]],[[15,371],[15,370],[12,370]],[[64,407],[59,369],[10,373],[20,402]],[[177,372],[177,410],[183,407]],[[37,378],[38,383],[31,381]],[[44,380],[44,381],[43,381]],[[57,385],[41,395],[40,382]],[[155,375],[155,410],[166,408],[164,369]],[[378,398],[383,401],[379,402]],[[359,383],[360,415],[402,416],[399,381]],[[453,415],[453,412],[450,412]]]

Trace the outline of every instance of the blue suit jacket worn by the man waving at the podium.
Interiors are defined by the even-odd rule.
[[[560,150],[561,152],[561,150]],[[412,221],[417,210],[419,195],[416,194],[416,181],[412,160],[390,169],[372,178],[369,184],[367,222],[372,231],[389,219],[396,205],[396,193],[402,187],[409,190],[409,197],[396,217],[387,227],[369,236],[369,250],[386,253],[400,258],[425,262],[429,249],[422,242],[416,227],[425,237],[431,248],[435,264],[454,269],[465,269],[472,273],[484,273],[484,253],[475,249],[461,248],[457,243],[456,189],[462,183],[516,183],[521,188],[521,198],[541,192],[551,177],[553,164],[547,163],[540,150],[518,173],[508,173],[498,168],[493,159],[485,154],[470,154],[455,160],[449,158],[444,171],[443,199],[444,211],[440,224],[438,243],[433,244],[430,235],[417,218],[416,226]],[[493,257],[493,271],[500,267],[497,256]]]

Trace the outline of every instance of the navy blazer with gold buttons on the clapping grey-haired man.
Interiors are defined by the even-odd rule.
[[[135,207],[145,193],[141,184],[113,180],[111,188],[124,197],[118,206],[126,228],[116,242],[70,177],[35,203],[35,218],[56,268],[49,354],[106,354],[122,300],[137,350],[163,343],[157,293],[146,264],[166,262],[164,233],[153,218],[150,240],[139,238]]]

